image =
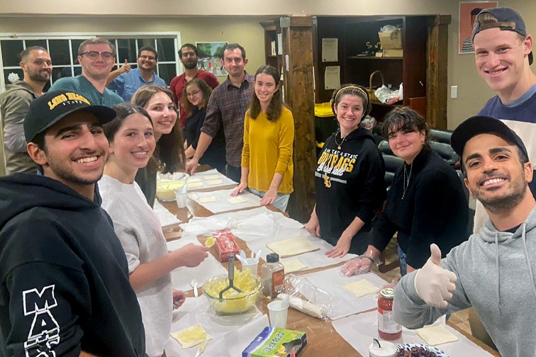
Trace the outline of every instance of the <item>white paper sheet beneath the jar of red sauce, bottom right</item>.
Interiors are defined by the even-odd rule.
[[[378,317],[377,312],[364,312],[363,314],[352,315],[332,322],[335,331],[345,339],[362,356],[369,356],[369,345],[372,339],[378,338]],[[445,325],[448,331],[458,338],[458,341],[440,344],[435,347],[445,351],[450,357],[471,356],[471,357],[491,357],[480,346],[467,339],[452,327]],[[393,344],[426,344],[414,330],[402,329],[402,337]]]

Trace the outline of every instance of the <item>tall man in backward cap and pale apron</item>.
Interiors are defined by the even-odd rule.
[[[532,137],[536,136],[536,76],[530,69],[533,39],[527,33],[525,21],[512,8],[485,8],[476,17],[471,38],[476,69],[497,94],[479,115],[489,115],[506,123],[523,139],[530,159],[535,160],[536,140]],[[536,191],[532,189],[532,193]],[[486,211],[477,201],[474,232],[479,231],[486,219]],[[469,323],[474,336],[493,346],[471,310]]]

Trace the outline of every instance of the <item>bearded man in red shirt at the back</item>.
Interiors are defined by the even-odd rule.
[[[208,86],[210,86],[212,89],[215,89],[219,84],[218,79],[214,74],[211,72],[206,72],[204,69],[197,68],[198,55],[199,51],[195,45],[192,45],[191,43],[182,45],[181,49],[179,50],[179,59],[184,66],[184,73],[172,79],[171,84],[169,84],[169,89],[175,95],[175,104],[177,107],[181,108],[180,123],[182,130],[184,130],[186,117],[188,116],[186,114],[186,108],[180,106],[182,92],[184,91],[184,86],[186,86],[186,83],[194,78],[199,78],[203,81],[206,81],[206,84],[208,84]]]

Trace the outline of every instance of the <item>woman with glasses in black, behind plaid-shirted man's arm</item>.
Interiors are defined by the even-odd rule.
[[[197,140],[199,140],[199,135],[201,135],[201,128],[203,127],[203,121],[206,115],[206,106],[211,93],[211,87],[199,78],[192,79],[184,87],[185,95],[181,98],[181,108],[184,108],[187,115],[184,128],[186,159],[191,159],[196,152]],[[213,169],[217,169],[220,173],[225,174],[225,162],[225,137],[223,136],[223,128],[220,128],[216,137],[213,138],[211,145],[199,160],[199,164],[206,164]]]

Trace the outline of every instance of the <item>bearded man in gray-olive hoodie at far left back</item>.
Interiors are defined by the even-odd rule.
[[[24,140],[24,115],[30,103],[43,95],[43,88],[52,74],[52,62],[45,48],[26,47],[21,52],[22,81],[6,86],[0,94],[0,117],[4,128],[4,152],[6,153],[6,174],[26,172],[36,174],[37,166],[26,152]]]

